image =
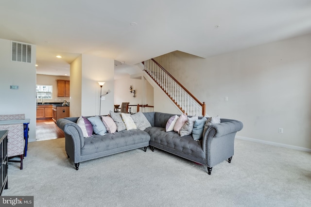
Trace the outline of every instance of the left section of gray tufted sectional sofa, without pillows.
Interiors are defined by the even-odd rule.
[[[93,134],[84,138],[81,128],[76,124],[79,117],[58,119],[56,124],[65,133],[65,150],[74,162],[76,170],[80,162],[105,157],[144,147],[146,152],[150,135],[139,129],[123,130],[115,134]],[[124,139],[126,138],[126,139]]]

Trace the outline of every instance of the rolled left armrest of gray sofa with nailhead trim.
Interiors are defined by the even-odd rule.
[[[75,143],[75,148],[80,149],[84,147],[84,136],[82,129],[74,122],[68,119],[58,119],[56,125],[65,132],[65,136],[71,136],[73,143]]]

